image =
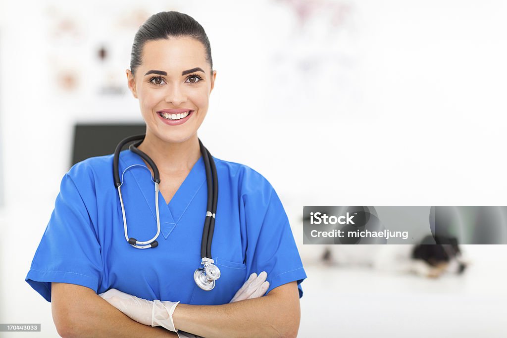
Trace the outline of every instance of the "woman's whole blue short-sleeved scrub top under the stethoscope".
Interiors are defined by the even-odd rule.
[[[219,180],[211,245],[221,277],[204,291],[194,281],[201,268],[207,204],[202,156],[167,204],[159,193],[158,247],[127,243],[113,154],[75,164],[60,193],[25,281],[51,302],[51,282],[78,284],[96,293],[116,288],[144,299],[192,305],[229,303],[248,276],[268,273],[268,293],[306,278],[287,215],[271,184],[248,166],[214,158]],[[128,236],[147,241],[157,233],[155,183],[142,159],[120,153]]]

